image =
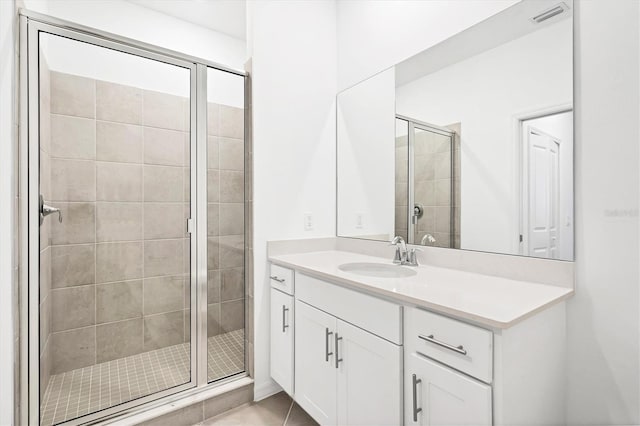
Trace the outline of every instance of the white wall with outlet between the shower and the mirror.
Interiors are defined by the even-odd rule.
[[[335,235],[333,1],[252,1],[255,397],[269,375],[268,240]],[[304,230],[305,212],[315,226]]]

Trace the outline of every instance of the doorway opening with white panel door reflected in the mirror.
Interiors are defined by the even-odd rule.
[[[522,122],[522,251],[549,259],[571,251],[572,207],[563,190],[564,157],[570,155],[571,112]],[[566,246],[563,241],[567,241]],[[563,254],[565,253],[565,254]]]

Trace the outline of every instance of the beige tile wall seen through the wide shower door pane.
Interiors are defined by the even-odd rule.
[[[188,100],[52,72],[51,157],[52,373],[188,341]]]

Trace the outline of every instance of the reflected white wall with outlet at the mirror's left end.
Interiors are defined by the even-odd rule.
[[[337,102],[338,235],[391,240],[395,233],[394,69],[341,92]]]

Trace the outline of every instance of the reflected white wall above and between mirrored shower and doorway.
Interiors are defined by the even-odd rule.
[[[405,84],[396,112],[446,126],[461,123],[460,246],[519,252],[516,115],[571,105],[571,20]]]

